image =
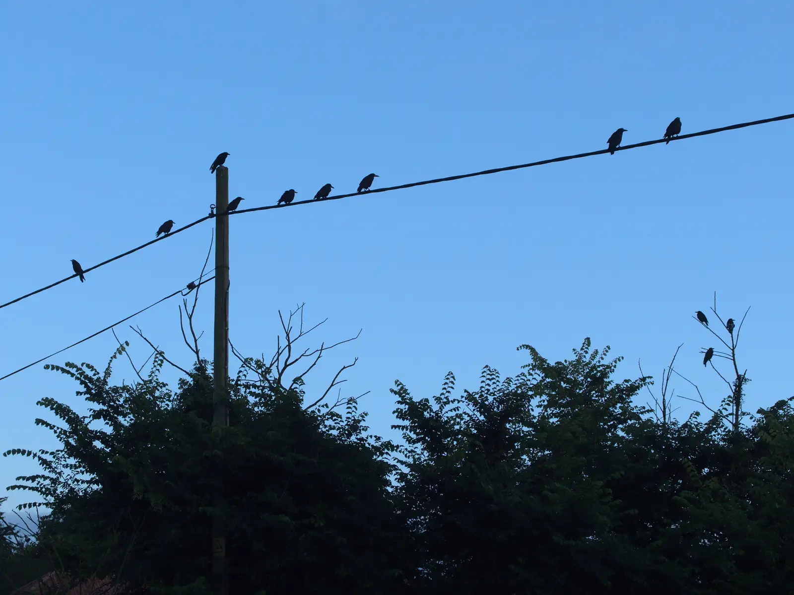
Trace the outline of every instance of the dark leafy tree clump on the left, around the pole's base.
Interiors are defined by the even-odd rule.
[[[366,434],[352,401],[344,414],[322,404],[304,411],[298,389],[230,384],[231,427],[217,431],[205,365],[172,393],[158,379],[161,355],[132,385],[110,384],[112,362],[103,373],[52,366],[79,382],[91,411],[42,399],[62,423],[37,424],[61,448],[10,453],[44,470],[13,487],[32,489],[52,509],[40,544],[59,570],[75,580],[114,576],[152,592],[204,593],[221,490],[233,592],[390,593],[401,580],[391,446]]]

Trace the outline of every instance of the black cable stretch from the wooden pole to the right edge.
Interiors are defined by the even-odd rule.
[[[647,147],[648,145],[657,145],[660,142],[667,142],[667,141],[683,141],[684,138],[693,138],[693,137],[703,137],[707,134],[715,134],[718,132],[725,132],[726,130],[735,130],[738,128],[746,128],[747,126],[758,126],[759,124],[768,124],[769,122],[780,122],[781,120],[789,120],[794,118],[794,114],[787,114],[784,116],[777,116],[776,118],[765,118],[764,120],[754,120],[754,122],[742,122],[742,124],[733,124],[731,126],[723,126],[722,128],[712,128],[710,130],[702,130],[701,132],[693,132],[690,134],[681,134],[680,136],[673,137],[671,139],[666,138],[658,138],[654,141],[645,141],[645,142],[638,142],[636,145],[626,145],[625,147],[619,147],[616,149],[617,151],[626,151],[628,149],[637,149],[638,147]],[[494,168],[494,169],[486,169],[482,172],[474,172],[474,173],[464,173],[459,176],[448,176],[445,178],[435,178],[434,180],[424,180],[423,182],[411,182],[410,184],[401,184],[399,186],[390,186],[387,188],[375,188],[374,190],[368,190],[364,192],[351,192],[350,194],[341,194],[336,196],[327,196],[326,198],[322,199],[306,199],[300,200],[297,203],[293,202],[290,204],[273,204],[268,205],[267,207],[253,207],[250,209],[240,209],[238,211],[233,211],[230,214],[240,214],[240,213],[252,213],[253,211],[268,211],[268,209],[280,209],[283,207],[296,207],[299,204],[310,204],[310,203],[319,203],[323,200],[338,200],[338,199],[346,199],[350,196],[361,196],[361,195],[368,195],[374,194],[375,192],[388,192],[391,190],[402,190],[403,188],[412,188],[414,186],[425,186],[426,184],[438,184],[439,182],[451,182],[452,180],[463,180],[464,178],[473,178],[475,176],[487,176],[491,173],[499,173],[499,172],[510,172],[514,169],[523,169],[523,168],[533,168],[536,165],[545,165],[549,163],[559,163],[560,161],[569,161],[572,159],[581,159],[582,157],[592,157],[594,155],[604,155],[609,153],[609,149],[602,149],[600,151],[591,151],[590,153],[577,153],[576,155],[566,155],[562,157],[554,157],[553,159],[544,159],[542,161],[533,161],[532,163],[525,163],[521,165],[508,165],[506,168]]]

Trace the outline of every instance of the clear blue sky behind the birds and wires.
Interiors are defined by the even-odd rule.
[[[206,214],[227,161],[245,207],[369,172],[391,186],[794,111],[788,2],[4,2],[0,301]],[[518,372],[536,346],[585,336],[620,377],[678,366],[714,404],[714,342],[692,320],[740,318],[748,408],[794,394],[792,122],[448,184],[231,218],[232,341],[271,353],[277,311],[355,334],[309,379],[359,356],[347,394],[388,435],[395,379],[419,396],[445,373]],[[0,376],[145,307],[198,275],[213,222],[0,310]],[[199,305],[211,349],[211,292]],[[176,301],[145,334],[191,357]],[[149,350],[129,327],[135,361]],[[104,367],[102,335],[54,362]],[[120,361],[115,378],[133,376]],[[168,370],[166,377],[175,380]],[[683,382],[680,392],[692,396]],[[41,365],[0,382],[0,450],[55,446],[44,396],[83,411]],[[680,415],[692,411],[686,401]],[[0,459],[0,495],[29,461]],[[25,500],[17,494],[11,502]]]

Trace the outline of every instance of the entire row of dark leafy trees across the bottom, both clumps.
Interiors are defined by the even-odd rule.
[[[790,402],[741,431],[722,410],[679,422],[638,406],[651,380],[616,379],[608,348],[519,349],[521,373],[486,367],[473,392],[398,382],[399,449],[263,361],[229,384],[225,431],[202,361],[175,392],[162,355],[120,386],[113,360],[54,366],[91,411],[43,399],[61,448],[11,451],[42,467],[16,486],[52,509],[37,551],[73,577],[207,593],[222,489],[233,593],[794,593]]]

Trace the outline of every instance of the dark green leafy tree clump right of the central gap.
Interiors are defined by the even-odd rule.
[[[423,593],[791,593],[792,410],[660,423],[589,340],[453,396],[393,391]]]

